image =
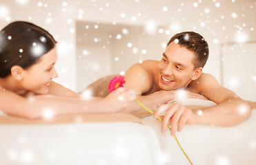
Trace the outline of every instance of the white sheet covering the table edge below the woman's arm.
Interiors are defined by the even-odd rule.
[[[161,156],[155,133],[136,122],[0,125],[0,133],[3,165],[148,165]]]

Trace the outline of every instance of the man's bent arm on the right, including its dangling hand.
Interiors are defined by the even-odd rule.
[[[246,101],[239,98],[233,91],[221,87],[213,76],[206,75],[204,78],[206,79],[202,80],[200,78],[199,83],[195,82],[194,85],[200,85],[200,87],[194,86],[194,89],[200,89],[199,93],[204,94],[209,100],[216,102],[217,105],[214,107],[193,107],[193,110],[177,103],[161,105],[155,111],[154,118],[165,112],[162,117],[162,132],[166,131],[168,124],[171,126],[171,135],[175,135],[175,131],[181,131],[184,124],[235,126],[244,122],[250,116],[251,109]],[[201,110],[200,113],[197,110]]]

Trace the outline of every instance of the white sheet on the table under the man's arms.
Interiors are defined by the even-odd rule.
[[[197,99],[176,101],[186,105],[215,105],[214,102]],[[143,120],[157,134],[162,151],[166,155],[166,164],[189,164],[175,138],[170,136],[170,131],[161,133],[161,123],[151,115]],[[251,117],[238,126],[185,125],[180,133],[176,133],[176,137],[193,164],[253,165],[256,164],[255,126],[256,111],[253,110]]]

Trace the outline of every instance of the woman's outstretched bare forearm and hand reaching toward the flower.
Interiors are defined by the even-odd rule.
[[[124,99],[119,99],[121,96]],[[68,115],[77,113],[111,113],[121,111],[134,100],[131,91],[119,88],[106,98],[88,99],[82,97],[55,96],[52,94],[24,98],[0,87],[0,109],[21,118],[44,118],[45,115]]]

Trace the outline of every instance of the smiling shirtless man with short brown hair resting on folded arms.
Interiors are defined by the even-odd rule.
[[[152,109],[156,102],[163,104],[176,98],[177,89],[186,91],[188,98],[204,96],[217,103],[214,107],[201,109],[202,115],[197,113],[198,109],[181,104],[163,104],[154,114],[157,118],[165,112],[161,131],[165,132],[168,124],[171,135],[175,135],[176,130],[181,131],[184,124],[234,126],[250,116],[248,102],[221,87],[210,74],[202,73],[208,52],[208,43],[200,34],[181,32],[170,39],[161,61],[144,61],[127,70],[125,87],[135,89],[137,98]]]

